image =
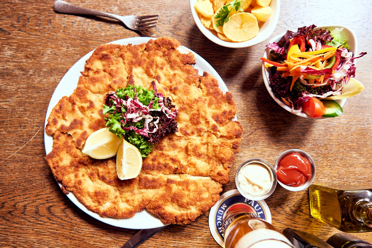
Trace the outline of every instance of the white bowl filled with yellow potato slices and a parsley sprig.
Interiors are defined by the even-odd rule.
[[[220,10],[218,6],[221,6],[221,4],[222,6],[224,4],[228,4],[226,3],[226,0],[190,0],[190,9],[196,26],[198,26],[199,30],[203,33],[203,35],[206,36],[206,38],[208,38],[215,44],[230,48],[243,48],[257,45],[269,38],[269,36],[274,32],[279,19],[280,0],[240,1],[241,6],[244,7],[245,10],[244,12],[240,12],[242,14],[239,13],[239,15],[235,15],[234,17],[231,17],[233,16],[233,11],[231,11],[229,16],[229,21],[231,21],[231,24],[228,25],[230,26],[230,28],[224,29],[226,33],[223,33],[222,26],[216,27],[215,23],[218,19],[214,18]],[[269,3],[269,5],[267,7],[259,6],[257,3],[262,4],[261,2]],[[255,10],[252,9],[253,6],[256,7]],[[253,12],[251,13],[252,10]],[[271,13],[268,13],[270,11]],[[211,16],[212,13],[213,15]],[[257,23],[253,23],[254,19],[257,20]],[[266,19],[266,21],[263,22],[259,19]],[[246,25],[238,26],[246,26],[247,28],[234,28],[234,25],[232,25],[232,23],[236,21],[246,22]],[[206,26],[208,26],[209,28],[206,28]],[[219,32],[217,32],[216,30],[219,30]],[[245,38],[249,39],[246,41],[239,41]],[[236,40],[236,42],[231,41],[231,39]]]

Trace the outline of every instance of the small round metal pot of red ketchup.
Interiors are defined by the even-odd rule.
[[[290,152],[284,155],[276,168],[276,175],[280,183],[291,187],[305,184],[311,177],[312,167],[310,160],[299,152]]]

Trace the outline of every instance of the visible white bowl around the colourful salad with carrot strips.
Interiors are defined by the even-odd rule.
[[[341,31],[341,38],[343,39],[346,39],[347,41],[347,44],[350,46],[350,52],[353,52],[353,55],[356,56],[357,55],[357,38],[356,38],[356,35],[355,33],[347,28],[346,26],[340,26],[340,25],[327,25],[327,26],[317,26],[315,29],[325,29],[327,28],[328,30],[332,31],[334,30],[335,28],[343,28],[343,30]],[[291,30],[292,32],[295,32],[297,30],[294,29],[294,30]],[[273,43],[273,42],[278,42],[280,41],[280,39],[285,35],[285,32],[284,33],[281,33],[277,36],[275,36],[274,38],[272,38],[269,43]],[[270,48],[266,48],[264,53],[263,53],[263,57],[264,58],[267,58],[269,60],[272,60],[272,56],[270,55]],[[306,118],[311,118],[311,119],[324,119],[325,117],[323,116],[320,116],[320,117],[311,117],[311,116],[308,116],[306,115],[304,112],[299,112],[299,113],[296,113],[292,110],[292,107],[291,106],[288,106],[286,105],[282,100],[278,99],[278,97],[276,97],[270,87],[270,84],[269,84],[269,77],[272,75],[271,73],[271,70],[270,68],[266,68],[265,67],[265,63],[263,62],[262,63],[262,76],[263,76],[263,81],[264,81],[264,84],[266,86],[266,89],[267,91],[269,92],[270,96],[275,100],[276,103],[278,103],[283,109],[295,114],[295,115],[298,115],[298,116],[302,116],[302,117],[306,117]],[[346,102],[346,99],[340,99],[340,100],[335,100],[338,104],[340,104],[341,107],[344,106],[345,102]]]

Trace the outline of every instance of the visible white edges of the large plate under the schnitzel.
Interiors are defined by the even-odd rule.
[[[119,45],[138,45],[144,42],[148,42],[150,39],[156,39],[151,37],[133,37],[133,38],[126,38],[126,39],[120,39],[118,41],[113,41],[110,43],[113,44],[119,44]],[[221,89],[223,93],[226,93],[228,91],[224,81],[222,81],[222,78],[218,75],[217,71],[214,70],[214,68],[207,62],[205,59],[200,57],[195,52],[191,51],[190,49],[182,46],[182,48],[185,48],[187,51],[190,51],[195,56],[195,62],[194,65],[195,69],[199,70],[199,75],[203,74],[203,71],[206,71],[207,73],[211,74],[214,78],[218,80],[218,86]],[[94,51],[94,50],[93,50]],[[74,89],[77,86],[78,79],[81,75],[81,71],[84,71],[84,65],[85,61],[93,54],[93,51],[86,54],[84,57],[79,59],[71,68],[67,71],[67,73],[62,77],[60,83],[55,88],[55,91],[52,95],[52,98],[49,102],[47,115],[45,117],[45,125],[47,125],[48,117],[53,109],[53,107],[58,103],[58,101],[63,96],[70,96],[71,93],[73,93]],[[48,154],[52,151],[52,145],[53,145],[53,137],[51,135],[48,135],[45,132],[44,129],[44,144],[45,144],[45,152]],[[61,187],[61,184],[59,184]],[[163,222],[160,221],[160,219],[147,212],[146,210],[143,210],[141,212],[137,212],[134,217],[128,218],[128,219],[116,219],[116,218],[109,218],[109,217],[101,217],[97,213],[94,213],[87,209],[76,197],[73,193],[67,194],[67,197],[81,210],[83,210],[88,215],[92,216],[93,218],[100,220],[106,224],[117,226],[121,228],[129,228],[129,229],[149,229],[149,228],[157,228],[160,226],[164,226]]]

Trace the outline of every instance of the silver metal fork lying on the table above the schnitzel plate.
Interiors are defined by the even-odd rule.
[[[65,14],[78,14],[78,15],[93,15],[93,16],[105,16],[113,18],[124,23],[129,29],[140,31],[156,26],[159,15],[152,16],[118,16],[110,13],[100,12],[96,10],[90,10],[83,7],[79,7],[65,1],[57,0],[53,4],[55,11]]]

